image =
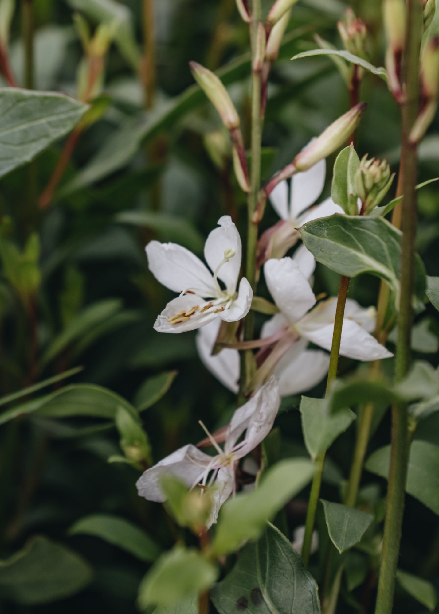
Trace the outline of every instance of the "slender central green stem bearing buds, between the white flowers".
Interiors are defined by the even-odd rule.
[[[251,37],[251,57],[255,58],[256,44],[258,37],[258,25],[261,19],[261,0],[253,0],[250,37]],[[252,62],[253,64],[253,62]],[[248,281],[253,289],[256,289],[256,247],[258,244],[258,223],[253,220],[256,207],[258,205],[259,186],[261,184],[261,139],[262,139],[262,119],[261,119],[261,72],[253,71],[251,75],[251,173],[250,173],[250,192],[247,199],[247,262],[246,274]],[[255,314],[250,311],[244,321],[244,339],[253,339],[253,329],[255,327]],[[240,396],[245,389],[247,381],[247,365],[251,356],[245,352],[241,355],[241,375],[240,375]]]

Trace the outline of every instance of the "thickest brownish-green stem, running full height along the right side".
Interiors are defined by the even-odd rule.
[[[416,119],[419,103],[419,52],[422,33],[422,4],[408,0],[406,43],[403,58],[403,82],[406,99],[403,102],[402,122],[404,152],[401,240],[401,298],[398,321],[398,343],[395,376],[400,381],[407,373],[410,362],[411,327],[413,322],[414,244],[416,239],[416,174],[417,149],[409,143],[409,132]],[[392,407],[392,444],[390,452],[389,489],[387,491],[386,521],[382,543],[381,569],[378,583],[376,614],[392,612],[395,592],[401,527],[404,513],[405,484],[409,456],[408,408]]]

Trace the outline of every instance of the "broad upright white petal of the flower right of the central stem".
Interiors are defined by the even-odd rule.
[[[267,260],[264,276],[274,302],[290,324],[295,324],[315,305],[314,292],[291,258]]]

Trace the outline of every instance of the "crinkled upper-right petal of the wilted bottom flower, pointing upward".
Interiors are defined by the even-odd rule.
[[[277,379],[272,377],[250,401],[233,414],[224,451],[230,451],[244,431],[245,443],[234,453],[235,458],[242,458],[256,448],[271,431],[279,405],[279,386]]]

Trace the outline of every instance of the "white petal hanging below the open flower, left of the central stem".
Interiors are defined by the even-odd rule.
[[[207,326],[200,328],[197,338],[197,350],[204,366],[212,373],[221,384],[232,392],[238,392],[238,380],[240,373],[239,351],[232,348],[224,348],[219,354],[212,356],[213,344],[215,344],[220,318]]]

